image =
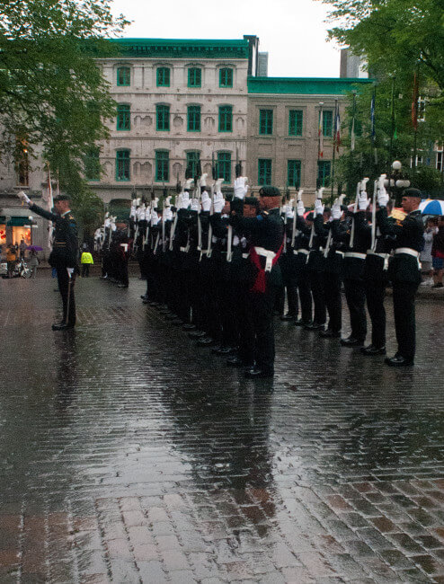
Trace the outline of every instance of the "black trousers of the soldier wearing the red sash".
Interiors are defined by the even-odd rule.
[[[274,371],[274,328],[273,308],[280,288],[270,286],[263,294],[250,292],[247,296],[247,328],[253,338],[249,343],[254,347],[256,367],[267,373]]]

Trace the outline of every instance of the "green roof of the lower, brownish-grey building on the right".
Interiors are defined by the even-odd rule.
[[[248,77],[248,93],[340,95],[372,83],[372,79],[338,77]]]

